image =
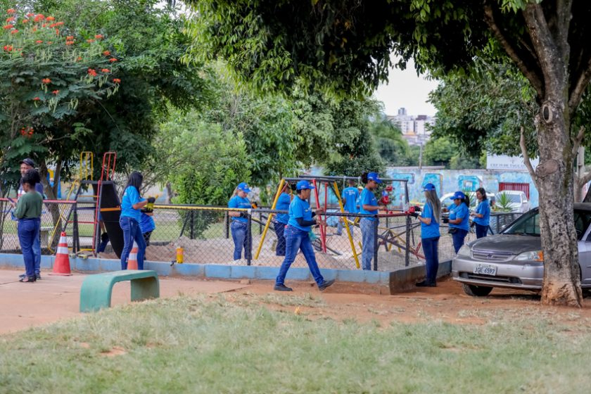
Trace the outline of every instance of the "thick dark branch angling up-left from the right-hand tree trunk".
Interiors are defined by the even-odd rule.
[[[538,93],[539,97],[544,96],[544,83],[542,77],[539,75],[540,72],[540,64],[538,58],[534,56],[534,53],[528,53],[528,51],[522,51],[518,46],[515,46],[513,43],[509,42],[509,38],[502,32],[500,26],[497,24],[495,20],[495,14],[492,10],[492,6],[488,0],[485,0],[484,5],[484,14],[485,20],[490,27],[490,30],[495,34],[497,40],[499,40],[503,49],[507,52],[507,55],[511,58],[512,61],[515,62],[519,70],[523,73],[523,75],[528,79],[528,81],[532,84],[535,91]],[[537,67],[528,67],[526,65],[525,60],[530,58],[532,63],[534,63]]]

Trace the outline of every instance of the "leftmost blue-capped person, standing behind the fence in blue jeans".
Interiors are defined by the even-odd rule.
[[[246,184],[246,182],[241,182],[238,186],[236,186],[236,190],[234,190],[232,198],[230,198],[230,201],[228,201],[228,208],[252,208],[250,201],[248,201],[248,198],[246,198],[248,193],[250,193],[248,184]],[[248,259],[251,256],[250,246],[252,243],[252,237],[249,239],[247,236],[248,212],[243,210],[231,210],[228,212],[228,215],[232,218],[230,230],[232,233],[232,240],[234,241],[234,261],[240,260],[242,258],[243,248],[244,258]]]

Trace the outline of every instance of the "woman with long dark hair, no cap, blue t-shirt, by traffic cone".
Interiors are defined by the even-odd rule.
[[[147,200],[141,198],[139,191],[144,177],[137,171],[129,174],[129,180],[123,197],[121,198],[121,215],[119,225],[123,230],[123,251],[121,252],[121,269],[127,269],[127,258],[134,246],[137,244],[137,268],[144,269],[144,255],[146,255],[146,241],[141,234],[139,223],[141,222],[141,208],[148,203],[153,203],[155,198],[150,197]]]

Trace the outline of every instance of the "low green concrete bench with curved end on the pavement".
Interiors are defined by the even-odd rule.
[[[113,285],[117,282],[132,282],[132,301],[160,297],[160,284],[155,271],[126,269],[89,275],[80,288],[80,312],[94,312],[110,307]]]

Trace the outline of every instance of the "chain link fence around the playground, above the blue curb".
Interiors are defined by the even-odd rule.
[[[16,231],[17,222],[13,220],[11,205],[0,199],[0,252],[20,253]],[[243,248],[239,248],[236,258],[232,218],[229,212],[244,212],[246,224]],[[156,205],[153,212],[155,229],[149,235],[146,260],[173,262],[177,248],[182,248],[184,262],[199,264],[264,265],[279,267],[284,260],[281,243],[275,227],[281,226],[275,220],[278,213],[286,211],[270,209],[231,210],[224,207],[203,207],[196,205]],[[100,242],[101,231],[95,227],[96,203],[92,198],[79,201],[44,201],[42,211],[41,245],[42,254],[55,253],[61,231],[68,236],[68,246],[74,252],[80,250],[93,252]],[[272,220],[265,234],[269,215]],[[497,234],[519,213],[492,213],[490,229]],[[367,215],[343,214],[330,207],[321,215],[326,227],[312,229],[312,245],[316,260],[321,268],[357,269],[362,264],[362,233],[359,222]],[[376,216],[376,215],[374,215]],[[421,248],[421,227],[417,220],[394,211],[390,215],[377,215],[376,251],[372,269],[392,271],[408,265],[424,264]],[[350,236],[346,229],[348,224]],[[439,260],[450,260],[455,255],[452,236],[447,234],[447,226],[441,227],[439,241]],[[265,234],[265,236],[263,236]],[[466,242],[476,239],[471,229]],[[279,246],[279,251],[278,251]],[[250,253],[248,251],[250,250]],[[101,258],[117,259],[110,245]],[[298,253],[293,267],[307,267],[302,253]]]

